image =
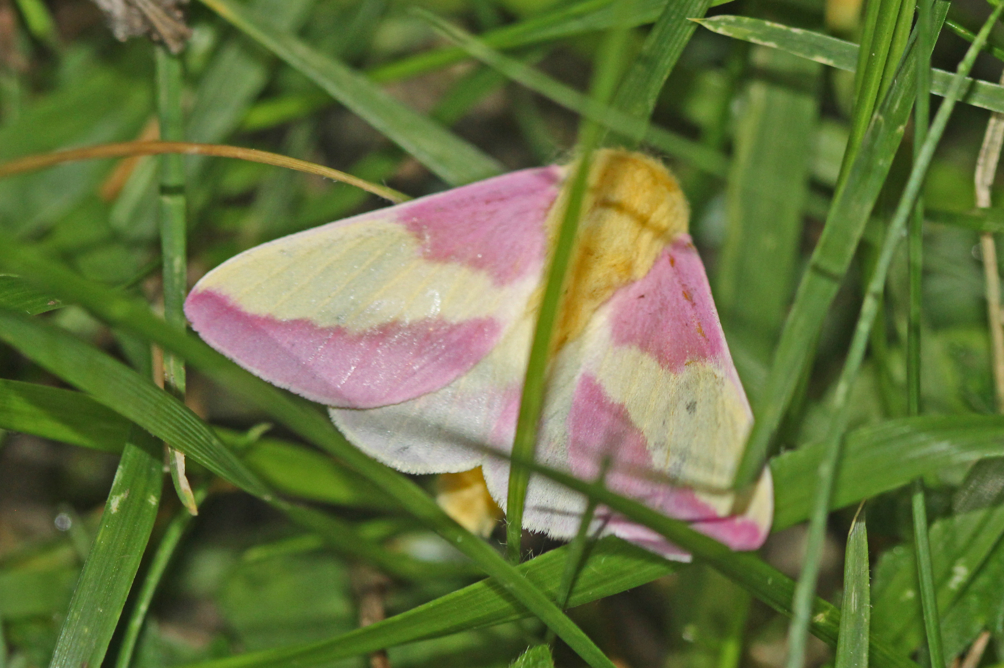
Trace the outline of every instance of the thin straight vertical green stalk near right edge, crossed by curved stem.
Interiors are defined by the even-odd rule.
[[[931,107],[931,34],[932,0],[918,3],[917,101],[914,103],[914,159],[920,157],[927,140]],[[921,414],[921,319],[923,317],[924,272],[924,198],[918,196],[908,231],[909,317],[907,323],[907,413]],[[914,557],[921,591],[921,610],[928,640],[932,668],[944,668],[941,616],[938,614],[938,594],[935,588],[934,566],[931,562],[931,539],[928,535],[927,493],[924,480],[914,480],[911,510],[914,522]]]

